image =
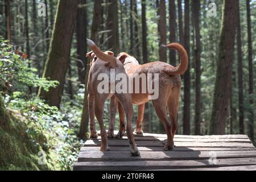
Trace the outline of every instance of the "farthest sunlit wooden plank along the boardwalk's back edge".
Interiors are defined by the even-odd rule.
[[[108,131],[108,130],[106,130]],[[100,131],[97,132],[100,136]],[[116,135],[118,133],[117,130],[114,131],[114,134]],[[136,136],[136,134],[134,133]],[[127,137],[125,133],[125,137]],[[150,134],[150,133],[144,133],[143,137],[159,137],[159,138],[167,138],[166,134]],[[175,135],[175,138],[246,138],[249,137],[247,135]]]

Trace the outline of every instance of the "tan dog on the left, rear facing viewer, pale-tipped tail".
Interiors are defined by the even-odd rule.
[[[103,112],[104,112],[104,103],[106,99],[115,96],[118,101],[122,104],[123,109],[125,110],[125,114],[127,117],[127,137],[129,140],[131,154],[134,156],[139,155],[138,148],[134,141],[133,131],[131,127],[131,119],[133,118],[133,106],[131,104],[131,94],[117,94],[110,92],[99,93],[98,85],[100,84],[101,80],[98,80],[101,73],[105,73],[106,76],[110,76],[110,69],[115,71],[115,74],[118,73],[125,73],[125,69],[123,68],[123,64],[113,56],[113,52],[101,52],[100,49],[92,42],[92,40],[87,39],[87,43],[92,49],[92,52],[86,54],[86,57],[91,57],[91,67],[89,71],[89,78],[88,78],[88,107],[89,107],[89,115],[90,115],[90,131],[92,133],[96,133],[95,123],[94,123],[94,113],[98,122],[100,123],[101,129],[101,151],[109,150],[108,146],[108,139],[106,130],[104,127],[104,119],[103,119]],[[127,75],[126,75],[127,76]],[[128,77],[127,77],[128,78]],[[111,80],[110,80],[111,81]],[[111,85],[108,79],[108,84]],[[117,82],[114,81],[114,84]]]

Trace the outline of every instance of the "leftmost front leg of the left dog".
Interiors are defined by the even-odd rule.
[[[89,120],[90,120],[90,137],[98,138],[95,120],[94,120],[94,96],[93,94],[88,94],[88,110],[89,110]]]

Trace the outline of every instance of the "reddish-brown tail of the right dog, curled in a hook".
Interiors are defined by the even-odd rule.
[[[166,67],[166,70],[165,70],[166,73],[170,76],[182,75],[183,73],[185,73],[185,71],[187,71],[187,68],[188,68],[188,54],[185,48],[178,43],[171,43],[165,47],[168,47],[170,49],[175,49],[180,56],[180,64],[177,67],[172,67],[172,66]]]

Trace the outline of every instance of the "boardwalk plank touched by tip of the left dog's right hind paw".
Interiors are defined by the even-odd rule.
[[[141,151],[140,156],[131,156],[129,151],[82,151],[78,162],[109,160],[189,160],[216,158],[256,157],[256,151]]]

